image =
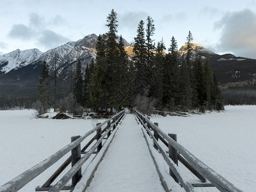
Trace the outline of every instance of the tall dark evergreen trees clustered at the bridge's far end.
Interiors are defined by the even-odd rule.
[[[173,36],[168,52],[163,40],[154,42],[152,36],[156,28],[154,20],[148,16],[146,22],[141,20],[138,24],[131,59],[125,51],[124,38],[116,36],[115,10],[111,10],[106,22],[109,31],[99,35],[96,59],[86,66],[84,75],[81,61],[77,60],[72,96],[69,96],[76,106],[93,108],[100,113],[113,113],[113,109],[123,107],[136,107],[143,112],[153,108],[223,109],[223,97],[209,60],[204,61],[200,56],[192,60],[190,31],[186,55],[180,57]],[[38,102],[45,106],[42,112],[48,108],[47,79],[49,69],[44,62],[38,85]]]

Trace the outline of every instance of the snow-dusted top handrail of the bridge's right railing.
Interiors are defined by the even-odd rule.
[[[216,188],[218,188],[220,191],[230,191],[230,192],[240,192],[241,190],[236,188],[234,184],[230,183],[227,179],[222,177],[219,173],[212,170],[209,166],[204,164],[200,159],[196,158],[191,152],[189,152],[186,148],[184,148],[182,145],[177,143],[175,140],[170,138],[168,134],[166,134],[164,131],[159,129],[153,122],[151,122],[145,115],[140,113],[140,111],[133,109],[134,113],[136,113],[142,120],[147,122],[152,129],[157,131],[158,134],[160,134],[170,145],[172,145],[173,148],[175,148],[182,156],[197,170],[200,174],[202,174],[207,180],[209,180]],[[145,126],[145,125],[144,125]]]

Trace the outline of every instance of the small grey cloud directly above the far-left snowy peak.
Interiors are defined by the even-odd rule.
[[[20,38],[22,40],[29,40],[33,36],[33,30],[24,24],[15,24],[12,26],[8,36],[12,38]]]

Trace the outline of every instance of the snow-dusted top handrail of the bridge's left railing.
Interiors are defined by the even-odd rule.
[[[116,118],[117,116],[121,116],[124,114],[124,111],[121,111],[114,115],[109,120],[112,120]],[[58,160],[61,159],[61,157],[65,156],[68,152],[70,152],[73,148],[77,147],[85,138],[90,136],[93,132],[97,131],[102,127],[102,125],[108,123],[108,120],[105,120],[100,125],[97,125],[90,131],[86,132],[81,138],[78,138],[77,140],[73,141],[72,143],[66,145],[65,147],[61,148],[61,150],[58,150],[55,154],[48,157],[44,161],[41,161],[40,163],[36,164],[29,170],[26,170],[26,172],[21,173],[19,176],[15,177],[14,179],[6,182],[6,184],[3,184],[3,186],[0,186],[1,192],[16,192],[19,189],[23,188],[26,184],[28,184],[31,180],[35,179],[38,175],[43,173],[47,168],[52,166],[52,164],[56,163]]]

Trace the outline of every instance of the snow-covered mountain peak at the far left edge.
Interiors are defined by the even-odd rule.
[[[17,69],[29,65],[38,60],[42,52],[38,49],[19,49],[0,56],[0,74],[6,74],[12,69]]]

